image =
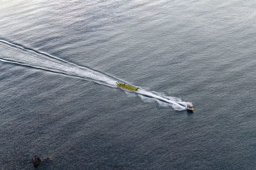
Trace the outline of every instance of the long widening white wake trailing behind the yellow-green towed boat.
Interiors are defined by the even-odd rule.
[[[4,62],[51,71],[52,73],[65,74],[66,76],[75,76],[77,78],[95,81],[102,85],[115,87],[115,78],[100,71],[95,71],[89,67],[78,66],[58,57],[36,52],[35,50],[14,45],[6,41],[0,41],[0,43],[0,60]]]

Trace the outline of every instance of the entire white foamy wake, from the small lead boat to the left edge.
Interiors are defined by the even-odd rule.
[[[2,62],[64,74],[65,76],[83,78],[84,80],[94,81],[95,83],[108,87],[118,88],[116,81],[127,83],[114,76],[91,69],[90,67],[79,66],[72,62],[59,59],[58,57],[37,52],[31,48],[9,43],[8,41],[0,40],[0,56],[0,61]],[[175,110],[186,110],[186,104],[192,105],[191,103],[181,101],[181,99],[177,97],[164,96],[157,92],[149,92],[141,88],[132,93],[140,96],[143,101],[151,99],[151,101],[157,101],[162,105],[166,103]]]

